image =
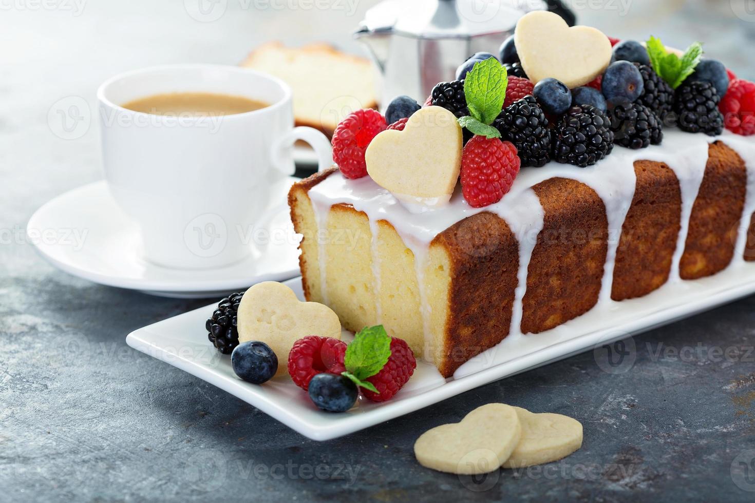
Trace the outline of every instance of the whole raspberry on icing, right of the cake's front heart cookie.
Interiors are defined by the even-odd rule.
[[[511,142],[474,136],[461,151],[461,192],[475,208],[501,201],[519,173],[519,157]]]

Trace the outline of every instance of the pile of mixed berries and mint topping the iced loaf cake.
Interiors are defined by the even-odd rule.
[[[584,54],[569,60],[577,68],[565,70],[562,60],[528,59],[533,47],[550,49],[547,44],[530,46],[532,34],[524,24],[502,41],[496,54],[477,52],[467,58],[458,66],[456,80],[436,84],[422,106],[412,97],[396,97],[386,110],[390,125],[384,126],[374,111],[351,115],[333,140],[334,158],[344,175],[365,176],[364,149],[371,138],[383,129],[403,131],[408,118],[428,106],[442,107],[458,119],[461,161],[455,163],[461,194],[473,207],[500,201],[519,167],[550,161],[587,167],[610,155],[614,144],[627,149],[661,144],[664,127],[710,136],[722,133],[723,127],[755,134],[755,84],[736,78],[720,61],[703,57],[699,42],[682,53],[668,50],[653,36],[644,42],[607,37],[608,51],[598,32],[591,41],[600,48],[590,52],[592,46],[576,46]],[[403,176],[419,175],[407,171]],[[422,186],[424,180],[411,182]],[[400,195],[409,196],[397,196],[402,204],[432,199]],[[450,199],[453,191],[442,196]]]

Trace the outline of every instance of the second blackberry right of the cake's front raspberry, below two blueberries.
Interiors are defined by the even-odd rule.
[[[553,130],[553,157],[558,162],[590,166],[613,149],[609,118],[594,106],[572,106]]]

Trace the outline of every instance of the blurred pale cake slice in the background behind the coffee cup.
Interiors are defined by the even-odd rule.
[[[241,66],[269,73],[290,85],[296,125],[315,127],[328,136],[354,110],[377,108],[369,60],[328,44],[287,48],[281,42],[268,42],[252,51]]]

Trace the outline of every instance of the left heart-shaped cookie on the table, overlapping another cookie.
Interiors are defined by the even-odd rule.
[[[420,465],[451,474],[498,470],[519,443],[521,426],[512,406],[488,403],[461,422],[425,431],[414,443]]]

